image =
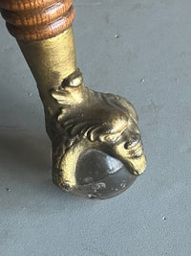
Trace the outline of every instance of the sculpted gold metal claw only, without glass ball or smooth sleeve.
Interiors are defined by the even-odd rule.
[[[88,89],[78,69],[51,94],[59,110],[52,117],[55,123],[47,126],[52,130],[53,181],[60,188],[73,190],[79,155],[90,149],[106,152],[132,175],[141,175],[146,161],[133,105]]]

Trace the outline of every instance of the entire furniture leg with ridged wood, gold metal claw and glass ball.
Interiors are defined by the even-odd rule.
[[[133,105],[90,90],[76,66],[72,0],[0,0],[26,58],[53,144],[53,182],[85,198],[125,191],[146,165]]]

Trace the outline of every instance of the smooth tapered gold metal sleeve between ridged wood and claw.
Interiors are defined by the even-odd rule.
[[[76,70],[73,27],[53,38],[17,42],[32,70],[45,108],[54,112],[57,105],[51,90]]]

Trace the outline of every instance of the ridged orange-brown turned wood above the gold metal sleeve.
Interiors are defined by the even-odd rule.
[[[0,0],[2,16],[18,40],[51,38],[74,21],[73,0]]]

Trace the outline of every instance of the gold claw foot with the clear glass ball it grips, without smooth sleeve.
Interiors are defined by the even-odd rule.
[[[127,100],[88,89],[79,70],[52,90],[58,111],[47,120],[53,182],[84,198],[113,198],[145,169],[138,116]]]

